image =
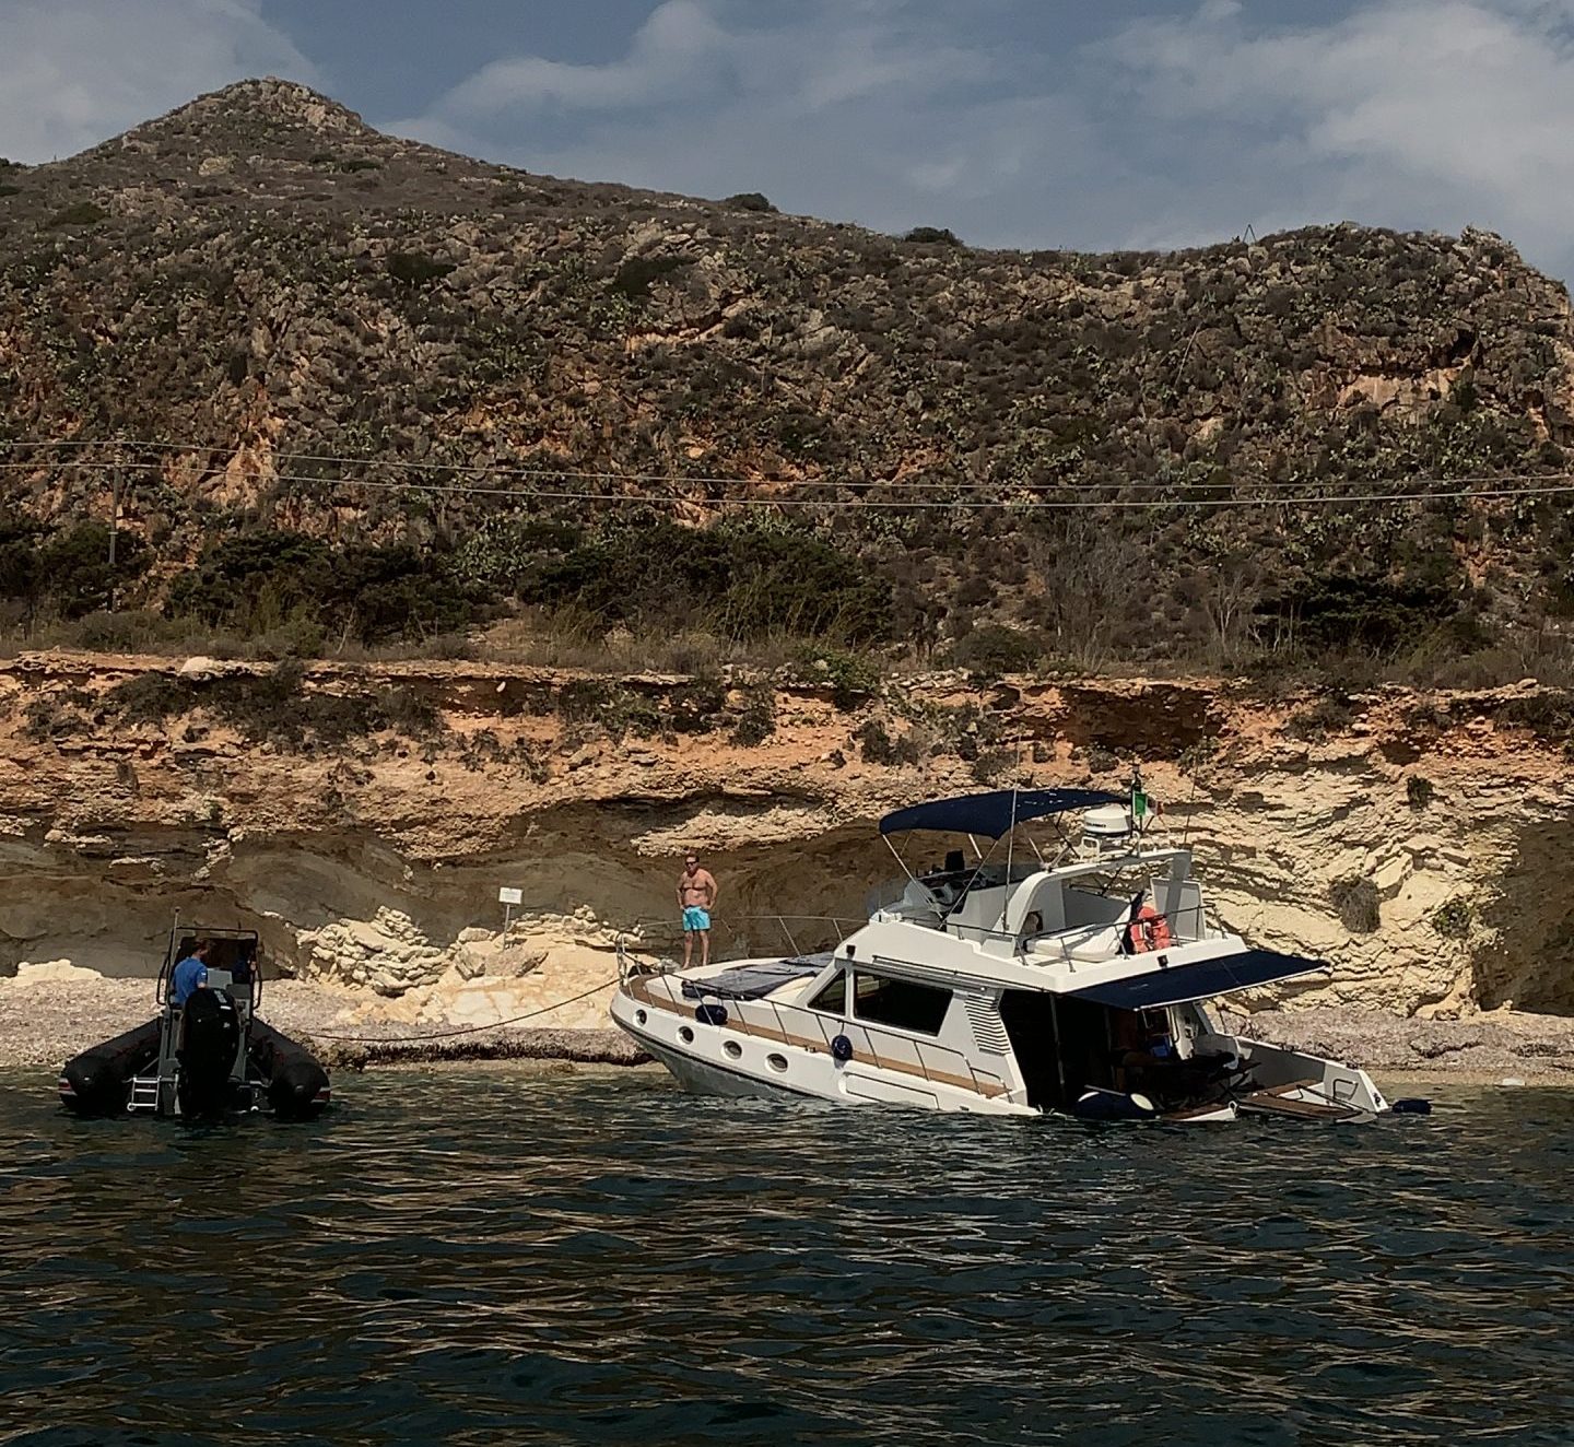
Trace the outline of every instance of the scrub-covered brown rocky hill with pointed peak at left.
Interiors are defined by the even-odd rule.
[[[1571,446],[1568,294],[1486,233],[981,252],[279,80],[0,172],[13,624],[113,590],[367,639],[540,605],[998,666],[1522,653],[1574,609],[1560,494],[1358,499],[1552,485]]]

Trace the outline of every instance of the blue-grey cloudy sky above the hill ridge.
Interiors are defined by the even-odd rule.
[[[0,156],[257,74],[537,172],[889,231],[1478,225],[1574,277],[1574,0],[0,0]]]

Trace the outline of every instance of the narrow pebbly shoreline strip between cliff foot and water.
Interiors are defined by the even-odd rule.
[[[154,1012],[153,989],[150,979],[105,979],[85,970],[0,979],[0,1069],[55,1069],[79,1050],[140,1025]],[[389,1001],[364,990],[279,979],[268,984],[261,1012],[332,1069],[491,1060],[636,1066],[648,1060],[611,1027],[412,1022],[379,1016],[379,1003]],[[1228,1016],[1226,1023],[1379,1075],[1574,1085],[1574,1019],[1561,1016],[1497,1011],[1420,1020],[1330,1006]]]

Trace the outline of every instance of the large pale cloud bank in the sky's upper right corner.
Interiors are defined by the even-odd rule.
[[[1302,219],[1505,231],[1574,263],[1574,5],[1376,0],[1253,31],[1250,13],[1132,25],[1108,47],[1169,124],[1232,124],[1240,203]]]

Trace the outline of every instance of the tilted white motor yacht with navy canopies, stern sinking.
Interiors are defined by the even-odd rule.
[[[1018,841],[1031,820],[1055,827],[1047,850]],[[973,861],[908,871],[822,953],[678,970],[625,949],[612,1019],[722,1096],[1103,1119],[1388,1110],[1365,1071],[1218,1030],[1206,1001],[1327,967],[1209,923],[1192,852],[1151,842],[1149,822],[1140,781],[899,809],[888,842],[962,836]]]

